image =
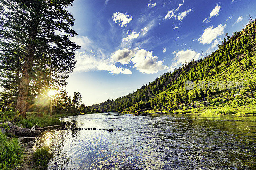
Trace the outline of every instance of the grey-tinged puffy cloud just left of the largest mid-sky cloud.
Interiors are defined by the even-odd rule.
[[[124,48],[123,50],[117,50],[114,55],[111,56],[112,60],[115,62],[119,62],[121,64],[128,64],[131,61],[131,58],[135,56],[135,51],[134,50],[129,50],[127,48]]]

